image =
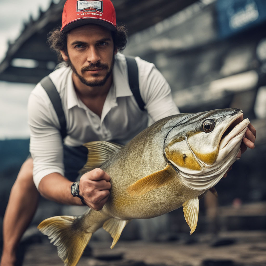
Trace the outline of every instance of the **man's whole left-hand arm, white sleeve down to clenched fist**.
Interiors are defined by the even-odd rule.
[[[73,182],[63,176],[63,145],[57,115],[47,93],[38,84],[28,103],[31,130],[30,151],[34,159],[34,182],[40,194],[56,202],[82,205],[73,197]],[[80,196],[95,210],[102,209],[111,188],[110,176],[101,169],[85,173],[80,179]]]

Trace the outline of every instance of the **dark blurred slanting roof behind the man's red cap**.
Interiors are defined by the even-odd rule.
[[[150,27],[171,16],[197,0],[113,0],[117,24],[126,24],[129,35]],[[0,80],[10,82],[37,83],[49,74],[57,63],[51,52],[47,34],[61,25],[61,13],[65,0],[51,2],[47,11],[40,10],[39,18],[24,25],[20,36],[9,43],[6,57],[0,64]]]

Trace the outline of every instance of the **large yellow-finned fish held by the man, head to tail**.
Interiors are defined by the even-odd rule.
[[[93,232],[103,227],[117,243],[132,219],[156,217],[183,206],[193,233],[199,198],[211,190],[237,160],[248,119],[238,109],[184,113],[163,118],[125,146],[89,142],[85,170],[101,167],[111,177],[102,210],[81,216],[56,216],[40,231],[57,246],[67,266],[78,263]]]

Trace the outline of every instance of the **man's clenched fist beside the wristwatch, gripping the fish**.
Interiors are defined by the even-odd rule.
[[[96,211],[101,210],[108,200],[110,188],[110,176],[100,168],[95,168],[80,178],[80,196],[90,208]]]

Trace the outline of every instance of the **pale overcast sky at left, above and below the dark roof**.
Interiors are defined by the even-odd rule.
[[[34,19],[38,18],[39,8],[46,11],[51,1],[0,0],[0,61],[5,57],[7,41],[14,41],[30,15]],[[27,101],[33,88],[32,84],[0,81],[0,140],[29,137]]]

